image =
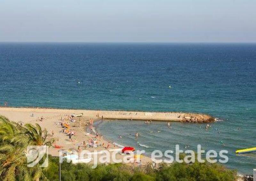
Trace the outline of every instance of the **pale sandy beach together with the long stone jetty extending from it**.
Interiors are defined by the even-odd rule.
[[[68,117],[71,115],[82,115],[80,118],[76,117],[76,125],[80,123],[80,126],[75,126],[74,123],[68,122]],[[96,132],[98,129],[94,128],[94,131],[90,130],[90,120],[93,119],[95,122],[104,121],[104,120],[153,120],[153,121],[176,121],[176,122],[186,122],[184,121],[184,117],[196,115],[198,117],[202,117],[205,120],[212,118],[211,116],[205,114],[192,114],[192,113],[177,113],[177,112],[169,112],[169,113],[160,113],[160,112],[134,112],[134,111],[99,111],[99,110],[81,110],[81,109],[56,109],[56,108],[24,108],[24,107],[0,107],[0,115],[3,115],[14,122],[19,122],[22,124],[31,123],[31,124],[39,124],[42,129],[46,129],[48,133],[52,134],[52,138],[55,138],[56,141],[53,145],[61,146],[63,150],[75,150],[78,151],[80,146],[81,150],[85,150],[83,148],[83,142],[90,142],[90,140],[95,139]],[[207,117],[207,119],[206,119]],[[43,121],[41,121],[43,118]],[[70,123],[70,128],[76,134],[72,136],[75,141],[70,141],[68,136],[61,132],[62,128],[60,124],[61,118],[65,118],[65,120]],[[80,120],[81,119],[81,120]],[[191,119],[191,118],[190,118]],[[204,121],[202,119],[202,122]],[[212,118],[213,119],[213,118]],[[187,121],[188,122],[188,121]],[[190,121],[191,122],[191,121]],[[73,125],[72,125],[73,124]],[[96,125],[97,127],[97,125]],[[95,131],[96,130],[96,131]],[[99,133],[100,134],[100,133]],[[104,137],[104,135],[103,135]],[[100,146],[97,147],[86,147],[86,150],[90,152],[96,152],[93,154],[100,154],[100,152],[104,150],[108,150],[109,152],[113,152],[111,150],[120,149],[121,147],[116,144],[116,140],[108,140],[108,139],[99,139],[98,144]],[[109,145],[108,148],[106,146]],[[129,145],[125,145],[129,146]],[[60,150],[54,146],[49,148],[49,154],[52,156],[59,156]],[[98,153],[97,153],[98,152]],[[124,155],[117,154],[118,159],[124,158]],[[97,158],[98,159],[98,158]],[[151,158],[148,156],[143,156],[141,158],[142,164],[151,163]],[[113,163],[112,159],[110,163]]]

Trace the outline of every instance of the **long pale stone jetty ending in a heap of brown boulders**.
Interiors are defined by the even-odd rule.
[[[83,109],[56,109],[40,107],[0,107],[1,111],[10,112],[29,112],[32,113],[64,113],[64,114],[83,114],[98,119],[108,120],[152,120],[169,122],[194,122],[208,123],[216,119],[207,114],[183,113],[183,112],[141,112],[141,111],[103,111],[103,110],[83,110]]]

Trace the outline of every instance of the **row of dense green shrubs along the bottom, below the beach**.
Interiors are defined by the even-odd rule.
[[[127,164],[98,165],[92,169],[90,164],[72,164],[64,161],[61,164],[63,181],[231,181],[236,180],[236,170],[226,169],[220,164],[173,163],[160,164],[158,169],[150,169],[149,165],[139,169]],[[59,178],[59,158],[49,156],[49,166],[43,170],[49,180]]]

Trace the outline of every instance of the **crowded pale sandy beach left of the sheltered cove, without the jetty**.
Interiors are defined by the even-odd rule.
[[[83,146],[83,142],[89,143],[89,140],[92,140],[92,138],[95,138],[96,134],[94,131],[89,131],[89,133],[86,132],[88,129],[88,125],[90,125],[90,119],[93,119],[95,121],[101,120],[97,115],[95,115],[95,111],[86,111],[86,114],[84,114],[81,117],[75,117],[75,122],[69,122],[69,117],[71,114],[81,114],[81,112],[84,113],[82,110],[64,110],[64,109],[36,109],[36,108],[10,108],[10,107],[1,107],[0,108],[0,115],[4,115],[8,119],[14,122],[18,122],[20,124],[26,124],[31,123],[35,124],[38,123],[42,129],[46,129],[49,134],[49,138],[55,138],[55,142],[53,143],[53,146],[49,148],[49,154],[52,156],[59,156],[60,150],[75,150],[79,153],[78,146],[80,146],[80,152],[85,150]],[[43,121],[41,121],[41,118],[43,117]],[[64,119],[64,122],[68,122],[70,125],[70,131],[73,131],[75,133],[74,136],[72,136],[72,141],[69,139],[68,135],[61,133],[62,127],[60,124],[60,120]],[[93,130],[95,130],[93,128]],[[53,133],[53,135],[52,135]],[[100,134],[100,133],[99,133]],[[97,140],[97,147],[89,147],[86,146],[86,150],[90,152],[97,152],[95,154],[98,154],[98,158],[102,151],[108,150],[110,153],[113,151],[116,152],[116,150],[121,150],[121,147],[118,147],[114,144],[115,140],[106,140],[104,139],[98,139]],[[108,149],[106,148],[109,144]],[[54,145],[61,146],[61,148],[55,148]],[[117,153],[116,159],[123,159],[124,155]],[[91,161],[93,162],[93,160]],[[151,159],[142,156],[141,157],[141,164],[147,164],[148,162],[151,162]],[[112,157],[110,157],[110,163],[112,163]]]

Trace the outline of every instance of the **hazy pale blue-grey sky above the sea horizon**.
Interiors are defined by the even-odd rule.
[[[256,42],[256,0],[0,0],[0,42]]]

